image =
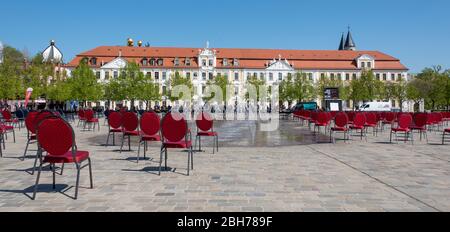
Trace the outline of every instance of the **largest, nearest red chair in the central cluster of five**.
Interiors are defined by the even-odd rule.
[[[165,154],[165,170],[167,170],[167,149],[174,148],[188,149],[187,175],[189,176],[189,170],[194,169],[194,151],[192,149],[192,134],[184,116],[179,113],[167,113],[161,121],[161,135],[159,175],[161,175],[163,153]]]

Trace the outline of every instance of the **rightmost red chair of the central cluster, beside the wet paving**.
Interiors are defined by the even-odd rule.
[[[197,136],[195,137],[194,148],[197,147],[198,140],[198,150],[201,151],[202,137],[213,137],[213,154],[215,154],[214,150],[219,152],[219,134],[214,131],[214,120],[212,116],[206,112],[202,112],[197,116],[195,124],[197,125]]]

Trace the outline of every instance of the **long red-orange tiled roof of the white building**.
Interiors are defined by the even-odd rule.
[[[142,58],[163,58],[163,66],[157,68],[195,68],[201,48],[171,47],[126,47],[100,46],[83,52],[75,57],[67,66],[77,66],[83,57],[96,57],[97,67],[117,58],[119,54],[128,61],[140,63]],[[407,70],[400,60],[378,51],[335,51],[335,50],[275,50],[275,49],[234,49],[211,48],[216,51],[217,68],[251,68],[265,69],[266,63],[280,55],[293,64],[295,69],[357,69],[354,62],[359,56],[366,54],[375,59],[377,70]],[[180,66],[174,66],[174,58],[178,57]],[[191,58],[191,66],[185,67],[184,60]],[[227,58],[230,66],[223,67],[222,60]],[[239,59],[239,66],[232,65],[233,59]],[[151,66],[148,66],[151,67]],[[156,67],[156,66],[154,66]]]

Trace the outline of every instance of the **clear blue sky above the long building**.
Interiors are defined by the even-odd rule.
[[[0,41],[34,55],[55,39],[66,62],[128,37],[152,46],[337,49],[350,25],[359,50],[388,53],[412,72],[450,68],[447,0],[18,0],[0,8]]]

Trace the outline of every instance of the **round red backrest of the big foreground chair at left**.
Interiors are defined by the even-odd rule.
[[[62,118],[56,116],[44,118],[36,132],[39,147],[53,156],[62,156],[75,145],[73,129]]]

